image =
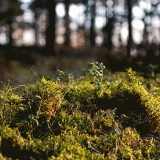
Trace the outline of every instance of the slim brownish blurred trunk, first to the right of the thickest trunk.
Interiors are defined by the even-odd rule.
[[[69,0],[65,0],[65,10],[66,10],[66,15],[65,15],[65,27],[66,27],[66,34],[65,34],[65,46],[70,45],[70,29],[69,29]]]

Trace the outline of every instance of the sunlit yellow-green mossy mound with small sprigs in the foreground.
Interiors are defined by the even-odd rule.
[[[90,65],[78,79],[58,70],[36,84],[4,86],[0,159],[158,160],[159,78]]]

